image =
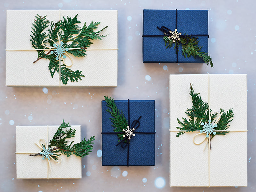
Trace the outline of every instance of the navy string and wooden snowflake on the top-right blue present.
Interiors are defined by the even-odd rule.
[[[197,38],[195,36],[208,36],[208,38],[209,38],[209,35],[208,34],[207,35],[204,35],[204,34],[203,35],[202,34],[197,34],[197,35],[181,35],[181,33],[177,33],[177,29],[178,29],[178,27],[177,27],[178,26],[178,10],[177,9],[176,9],[175,17],[176,17],[176,23],[175,23],[176,27],[175,27],[174,31],[171,31],[171,29],[169,29],[169,28],[167,28],[165,26],[162,26],[161,28],[157,26],[157,28],[159,30],[164,32],[163,35],[142,35],[142,37],[168,36],[169,39],[172,38],[173,39],[172,42],[175,43],[175,46],[176,46],[176,62],[175,63],[178,63],[179,62],[179,56],[178,56],[178,48],[177,48],[178,44],[177,44],[177,42],[179,41],[180,44],[183,44],[183,43],[180,42],[180,38],[179,37],[185,38],[187,40],[187,42],[185,44],[183,44],[183,45],[186,45],[186,44],[188,44],[188,38],[199,39],[199,38]],[[175,41],[175,40],[178,40],[178,41]]]

